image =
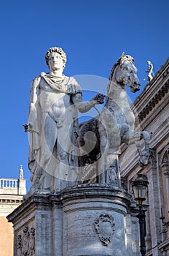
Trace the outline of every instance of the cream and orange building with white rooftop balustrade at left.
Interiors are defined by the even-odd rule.
[[[23,202],[26,194],[23,168],[20,166],[19,178],[0,178],[0,255],[13,255],[13,227],[7,215]]]

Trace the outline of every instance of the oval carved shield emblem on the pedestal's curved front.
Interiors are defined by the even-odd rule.
[[[114,226],[114,217],[110,214],[101,214],[100,217],[95,220],[95,230],[103,245],[108,246],[111,242],[111,235],[113,235],[115,231]]]

